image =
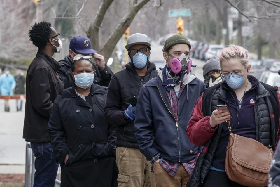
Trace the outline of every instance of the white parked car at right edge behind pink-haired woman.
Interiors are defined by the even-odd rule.
[[[278,74],[279,70],[280,66],[269,68],[269,70],[266,70],[262,73],[260,81],[271,86],[277,86],[278,92],[280,93],[280,75]]]

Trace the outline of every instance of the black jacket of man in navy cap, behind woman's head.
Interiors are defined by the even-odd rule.
[[[71,75],[72,61],[69,55],[58,61],[58,63],[61,65],[61,68],[57,71],[57,73],[62,78],[64,88],[72,87],[74,84],[74,79]],[[93,69],[95,70],[94,83],[100,86],[108,86],[112,75],[114,75],[110,67],[105,64],[105,69],[100,70],[95,63],[92,63],[92,65]]]

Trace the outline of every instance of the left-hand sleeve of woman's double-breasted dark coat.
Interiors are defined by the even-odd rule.
[[[67,148],[67,142],[64,138],[64,127],[61,122],[60,112],[58,103],[60,103],[61,98],[57,97],[54,101],[53,109],[50,115],[50,120],[48,123],[48,132],[50,136],[50,141],[53,146],[53,153],[56,160],[62,163],[69,152]]]

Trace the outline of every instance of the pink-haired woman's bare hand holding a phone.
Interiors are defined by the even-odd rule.
[[[216,110],[212,112],[209,123],[211,127],[215,127],[220,123],[230,120],[230,118],[232,118],[232,115],[228,107],[226,105],[217,105]]]

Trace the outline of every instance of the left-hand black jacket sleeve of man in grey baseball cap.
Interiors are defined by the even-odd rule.
[[[106,104],[104,107],[105,119],[114,125],[123,125],[128,122],[124,117],[124,111],[121,110],[121,93],[118,83],[113,76],[108,86]]]

